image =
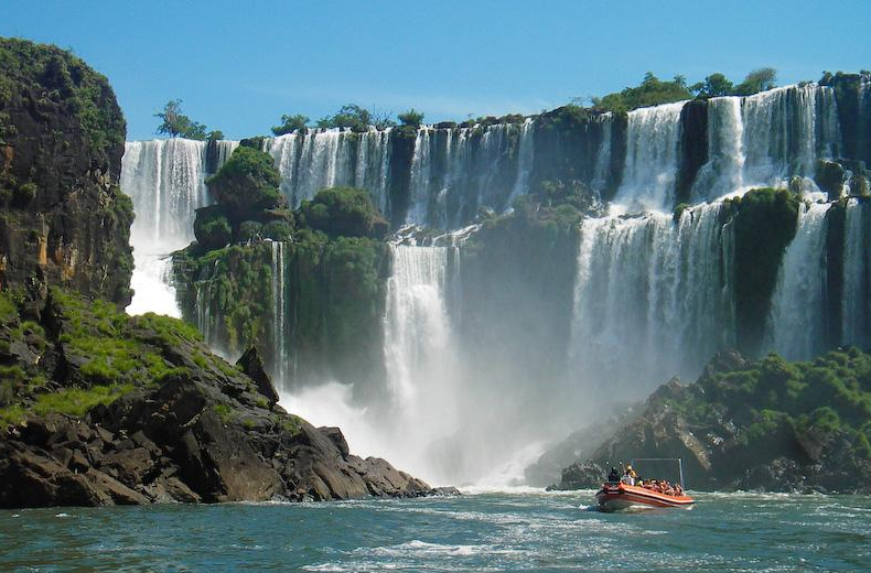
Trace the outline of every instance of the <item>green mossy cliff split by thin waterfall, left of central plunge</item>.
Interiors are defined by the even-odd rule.
[[[222,194],[217,195],[221,201]],[[293,338],[284,343],[301,355],[299,367],[348,380],[379,376],[389,256],[380,240],[387,221],[368,193],[352,187],[322,190],[297,212],[282,212],[286,219],[239,223],[229,246],[222,208],[200,209],[198,244],[173,257],[184,316],[194,320],[196,305],[204,304],[219,317],[209,326],[209,343],[229,353],[255,345],[266,350],[267,363],[275,359],[269,354],[276,347],[273,248],[260,239],[281,240],[286,332]],[[276,210],[280,209],[267,213],[272,216]],[[207,224],[224,227],[221,240],[201,238]]]

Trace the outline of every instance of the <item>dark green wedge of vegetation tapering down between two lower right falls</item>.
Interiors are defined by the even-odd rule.
[[[735,315],[743,352],[760,348],[781,259],[795,236],[799,199],[786,190],[760,188],[729,203],[734,217]]]

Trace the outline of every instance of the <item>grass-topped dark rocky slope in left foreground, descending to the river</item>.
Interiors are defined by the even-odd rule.
[[[37,315],[0,310],[0,507],[430,490],[277,406],[256,352],[234,367],[180,321],[56,288]]]

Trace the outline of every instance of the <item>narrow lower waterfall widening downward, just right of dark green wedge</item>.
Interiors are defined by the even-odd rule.
[[[830,205],[802,206],[798,227],[777,273],[766,342],[788,360],[825,350],[826,212]]]

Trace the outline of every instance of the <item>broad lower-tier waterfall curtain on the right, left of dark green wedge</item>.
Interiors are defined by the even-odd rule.
[[[614,396],[691,376],[733,344],[720,205],[581,224],[570,344],[573,377]],[[626,360],[627,353],[634,358]]]

